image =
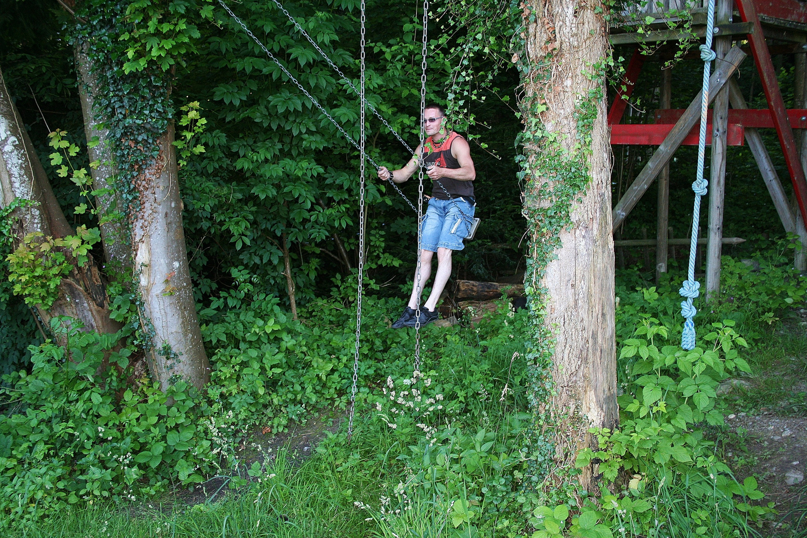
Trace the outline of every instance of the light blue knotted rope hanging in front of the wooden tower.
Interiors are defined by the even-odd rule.
[[[703,91],[700,98],[700,135],[698,137],[698,171],[696,180],[692,183],[695,191],[695,207],[692,210],[692,239],[689,242],[689,267],[687,280],[678,290],[682,297],[687,298],[681,302],[681,315],[684,321],[684,334],[681,335],[681,347],[687,350],[695,348],[695,322],[692,318],[697,310],[692,306],[692,299],[700,295],[700,282],[695,280],[695,253],[698,247],[698,222],[700,221],[700,197],[706,195],[709,181],[704,178],[704,156],[706,153],[706,115],[709,110],[709,76],[711,75],[712,60],[717,55],[712,50],[712,36],[714,28],[714,0],[709,0],[709,10],[706,15],[706,44],[700,45],[700,59],[704,60]]]

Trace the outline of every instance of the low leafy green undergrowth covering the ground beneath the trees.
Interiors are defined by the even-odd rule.
[[[387,327],[402,303],[366,297],[353,441],[342,431],[317,448],[321,465],[358,488],[340,502],[362,503],[383,532],[416,517],[456,536],[518,536],[529,528],[540,538],[553,536],[553,523],[573,536],[644,533],[656,519],[680,530],[708,518],[730,532],[746,518],[763,519],[769,509],[754,502],[761,495],[755,482],[734,481],[714,456],[710,439],[722,423],[714,389],[748,371],[739,327],[762,334],[765,314],[800,302],[804,284],[776,263],[760,264],[759,273],[739,262],[725,266],[725,293],[734,301],[701,311],[700,347],[692,352],[677,345],[674,286],[646,288],[637,280],[633,290],[618,287],[621,427],[596,432],[600,450],[584,451],[578,462],[600,461],[610,490],[580,498],[525,485],[536,457],[523,444],[532,423],[524,412],[527,311],[503,302],[474,327],[425,327],[422,371],[412,373],[413,333]],[[61,344],[31,348],[30,371],[6,375],[0,507],[10,521],[98,498],[142,498],[169,481],[200,482],[236,464],[236,445],[253,427],[278,431],[346,407],[351,279],[337,280],[331,297],[301,308],[295,321],[278,298],[255,293],[248,273],[233,277],[236,286],[200,312],[212,368],[207,394],[182,383],[169,394],[133,385],[128,348],[64,320],[52,327]],[[124,302],[117,311],[126,317]],[[717,316],[725,320],[710,322]],[[268,472],[256,465],[254,476]],[[379,487],[383,502],[370,493]],[[691,508],[680,509],[679,499]]]

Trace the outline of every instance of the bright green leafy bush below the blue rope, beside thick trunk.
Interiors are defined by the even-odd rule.
[[[746,340],[734,331],[734,321],[727,319],[712,323],[709,332],[700,335],[705,348],[659,348],[656,341],[667,340],[671,327],[646,316],[640,322],[633,338],[622,342],[619,355],[620,369],[625,369],[628,379],[624,394],[617,398],[620,427],[592,429],[600,449],[585,448],[576,461],[579,468],[598,461],[600,473],[609,482],[617,481],[623,472],[633,475],[621,495],[600,498],[608,518],[613,518],[610,524],[646,534],[662,520],[677,536],[687,526],[711,524],[709,518],[716,513],[761,522],[771,508],[751,503],[763,498],[755,480],[736,482],[715,455],[705,430],[723,424],[716,387],[728,377],[751,372],[738,354],[738,349],[748,347]],[[695,511],[682,516],[675,512],[675,505],[660,502],[664,486],[712,507],[706,512],[707,520],[700,521],[703,518]],[[730,532],[725,521],[714,524],[721,534]]]

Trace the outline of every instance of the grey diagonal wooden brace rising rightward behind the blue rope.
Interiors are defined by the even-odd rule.
[[[715,68],[712,77],[709,79],[709,101],[713,100],[713,95],[717,94],[717,91],[720,90],[725,81],[729,80],[731,75],[734,71],[737,70],[738,66],[742,63],[746,57],[746,53],[742,52],[738,47],[732,47],[728,54],[725,55],[725,59],[721,62],[716,62],[717,67]],[[659,175],[659,172],[663,168],[664,165],[670,161],[670,158],[675,150],[681,145],[681,142],[687,137],[687,134],[692,126],[695,125],[696,121],[700,118],[700,92],[695,96],[695,99],[692,101],[692,104],[689,105],[684,115],[680,117],[677,123],[675,123],[675,127],[672,128],[670,134],[667,135],[667,138],[664,139],[663,143],[659,145],[659,149],[654,152],[653,156],[650,157],[650,161],[647,161],[647,164],[642,169],[642,172],[633,180],[633,184],[629,186],[627,192],[622,197],[622,199],[617,203],[617,206],[613,208],[612,215],[613,215],[613,227],[612,229],[619,226],[625,217],[628,216],[630,211],[636,206],[637,202],[640,198],[642,198],[642,194],[645,194],[647,187],[650,186],[650,183],[653,182],[656,176]]]

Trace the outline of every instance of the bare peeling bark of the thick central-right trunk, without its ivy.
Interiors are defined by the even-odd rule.
[[[571,202],[571,226],[560,233],[556,259],[542,276],[537,275],[548,294],[542,323],[555,338],[554,397],[549,402],[556,422],[555,459],[559,467],[566,467],[580,449],[596,449],[596,437],[587,432],[589,427],[615,427],[619,421],[607,93],[604,81],[592,75],[592,65],[608,54],[602,15],[608,8],[599,1],[529,0],[521,5],[526,56],[522,60],[526,69],[522,71],[522,99],[546,106],[544,111],[538,109],[537,117],[529,106],[522,106],[528,116],[525,123],[529,126],[537,119],[550,138],[557,136],[551,144],[559,144],[558,156],[563,151],[574,155],[581,151],[578,106],[597,91],[601,96],[590,127],[590,182]],[[537,158],[534,152],[526,154],[528,162]],[[529,204],[549,203],[541,200],[541,186],[558,181],[536,173],[539,175],[529,180],[525,193],[525,211]],[[540,223],[533,225],[528,233],[533,241],[540,240]],[[596,473],[596,465],[583,469],[578,477],[581,486],[590,490]]]

